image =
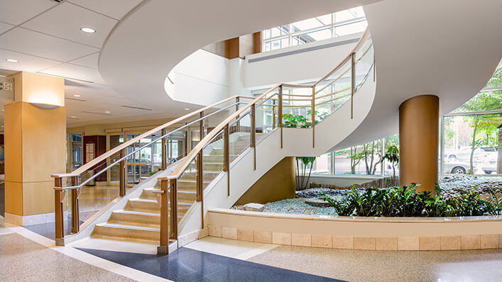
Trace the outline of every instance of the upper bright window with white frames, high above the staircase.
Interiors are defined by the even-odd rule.
[[[335,38],[366,29],[366,17],[361,7],[324,16],[308,18],[296,23],[263,30],[263,52]]]

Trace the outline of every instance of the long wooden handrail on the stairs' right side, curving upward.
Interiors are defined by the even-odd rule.
[[[183,173],[183,171],[185,171],[185,169],[187,169],[187,167],[190,165],[190,163],[193,162],[193,160],[195,159],[195,157],[197,157],[197,154],[199,154],[199,152],[202,149],[204,149],[204,147],[207,144],[209,144],[210,140],[212,140],[212,138],[214,136],[216,136],[217,134],[219,134],[219,132],[222,131],[227,125],[229,125],[229,123],[232,120],[235,120],[236,118],[239,117],[239,115],[242,115],[242,113],[244,113],[244,111],[250,109],[251,106],[253,106],[253,105],[257,106],[258,101],[261,101],[264,97],[266,97],[268,94],[270,94],[275,89],[278,89],[280,86],[295,87],[295,88],[312,88],[312,87],[315,87],[317,84],[319,84],[324,79],[327,79],[330,75],[334,74],[339,69],[341,69],[344,66],[344,64],[347,64],[347,62],[349,62],[349,60],[351,60],[351,57],[353,56],[352,54],[354,54],[357,51],[359,51],[368,38],[369,38],[369,29],[366,28],[366,30],[364,31],[364,34],[359,39],[359,42],[356,44],[356,46],[354,47],[354,49],[349,53],[349,55],[347,55],[347,57],[345,57],[344,60],[342,60],[342,62],[340,62],[337,65],[337,67],[335,67],[334,69],[332,69],[331,72],[329,72],[328,74],[326,74],[321,79],[315,81],[314,84],[287,84],[287,83],[280,83],[280,84],[275,84],[274,86],[272,86],[271,89],[268,89],[268,91],[266,91],[265,93],[263,93],[260,96],[256,97],[253,101],[251,101],[246,106],[244,106],[244,108],[239,109],[239,111],[236,111],[235,113],[233,113],[232,115],[230,115],[222,123],[219,123],[219,125],[217,125],[216,128],[214,128],[211,132],[209,132],[208,135],[206,135],[202,140],[200,140],[200,142],[197,144],[197,146],[195,146],[192,149],[192,151],[190,151],[190,153],[187,154],[187,157],[185,157],[185,159],[182,160],[182,162],[178,165],[178,167],[176,167],[176,169],[169,176],[159,177],[159,179],[160,180],[178,179],[181,176],[181,174]]]

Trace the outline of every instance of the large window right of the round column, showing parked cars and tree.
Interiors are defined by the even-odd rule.
[[[502,174],[502,62],[483,90],[442,119],[442,174]]]

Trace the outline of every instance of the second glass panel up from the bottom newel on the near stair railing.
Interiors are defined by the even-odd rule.
[[[202,149],[202,186],[206,188],[224,167],[224,132],[219,132]]]

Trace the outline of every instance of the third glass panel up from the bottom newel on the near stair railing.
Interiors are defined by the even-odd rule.
[[[251,145],[251,112],[241,115],[239,120],[229,124],[229,162]]]

